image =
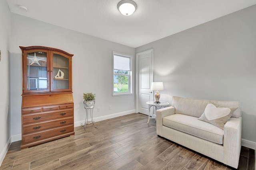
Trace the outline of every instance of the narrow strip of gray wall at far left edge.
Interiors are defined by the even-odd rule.
[[[9,118],[9,48],[10,48],[10,22],[11,13],[6,1],[0,0],[0,164],[8,147],[10,139]]]

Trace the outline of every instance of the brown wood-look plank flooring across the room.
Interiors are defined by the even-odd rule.
[[[75,127],[75,135],[20,150],[11,144],[0,169],[229,170],[156,135],[156,122],[134,113]],[[242,147],[239,170],[254,170],[254,150]]]

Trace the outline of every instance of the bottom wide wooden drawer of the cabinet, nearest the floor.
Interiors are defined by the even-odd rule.
[[[56,128],[52,128],[44,131],[39,131],[37,133],[30,133],[27,135],[22,135],[22,143],[26,144],[26,143],[31,143],[35,141],[40,141],[42,139],[46,139],[46,138],[57,136],[57,135],[62,135],[72,131],[74,131],[74,124],[56,127]]]

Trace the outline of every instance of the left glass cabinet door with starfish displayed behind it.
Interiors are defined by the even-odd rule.
[[[24,93],[50,91],[48,56],[48,51],[44,50],[30,50],[24,53]]]

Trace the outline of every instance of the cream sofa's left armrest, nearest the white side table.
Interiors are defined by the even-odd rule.
[[[156,110],[156,134],[162,136],[163,117],[175,114],[175,108],[172,106]]]

